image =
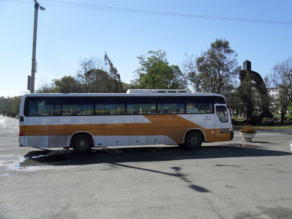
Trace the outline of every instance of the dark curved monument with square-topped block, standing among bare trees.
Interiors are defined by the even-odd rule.
[[[253,87],[258,90],[258,93],[260,94],[260,98],[263,100],[262,101],[263,112],[260,114],[260,116],[254,116],[253,122],[256,122],[254,120],[259,120],[261,118],[272,118],[273,114],[270,112],[270,109],[269,109],[269,102],[267,101],[268,94],[267,94],[267,88],[265,86],[265,83],[258,72],[254,72],[251,70],[251,62],[248,60],[246,60],[243,63],[243,70],[239,72],[240,82],[244,80],[244,77],[247,72],[251,73],[254,76],[254,81],[256,83],[253,84]]]

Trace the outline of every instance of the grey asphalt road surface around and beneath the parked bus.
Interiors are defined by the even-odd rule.
[[[292,218],[292,130],[253,142],[109,147],[89,154],[18,146],[0,115],[0,218]]]

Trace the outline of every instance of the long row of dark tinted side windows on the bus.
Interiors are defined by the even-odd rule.
[[[214,113],[214,96],[27,97],[25,116],[89,116]],[[218,101],[218,99],[214,100]],[[220,102],[222,102],[221,100]]]

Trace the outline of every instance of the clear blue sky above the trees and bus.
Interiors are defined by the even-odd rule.
[[[41,78],[75,75],[77,60],[105,51],[121,80],[130,83],[139,67],[137,56],[150,50],[166,52],[170,65],[180,65],[185,53],[200,55],[216,38],[226,39],[238,53],[239,65],[251,61],[262,77],[279,61],[292,55],[292,1],[287,0],[39,0],[36,44],[37,72]],[[87,4],[88,9],[82,5]],[[74,7],[76,8],[74,8]],[[84,5],[83,5],[84,6]],[[95,7],[101,6],[101,7]],[[151,12],[271,20],[290,25],[203,19],[108,11],[105,7]],[[93,9],[95,8],[95,9]],[[96,10],[103,9],[103,10]],[[31,75],[34,24],[33,0],[0,0],[0,96],[17,96],[27,90]]]

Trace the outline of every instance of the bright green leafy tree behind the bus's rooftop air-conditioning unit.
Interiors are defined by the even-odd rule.
[[[186,80],[178,65],[171,65],[165,51],[149,51],[149,56],[138,56],[141,67],[135,70],[136,79],[130,85],[134,89],[185,89]]]

